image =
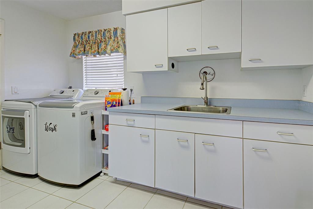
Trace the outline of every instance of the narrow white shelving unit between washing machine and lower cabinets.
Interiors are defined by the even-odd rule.
[[[104,126],[109,124],[109,112],[102,110],[103,127],[102,127],[102,173],[109,173],[109,169],[105,169],[109,163],[109,150],[105,150],[106,146],[109,146],[109,131],[104,130]]]

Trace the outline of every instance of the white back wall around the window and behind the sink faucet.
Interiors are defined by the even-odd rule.
[[[126,18],[121,11],[68,21],[67,56],[73,45],[73,33],[113,26],[126,28]],[[127,56],[124,61],[125,87],[134,86],[136,103],[140,102],[141,96],[203,96],[204,91],[199,89],[199,71],[205,66],[216,72],[214,80],[208,83],[208,96],[211,98],[301,99],[302,95],[300,69],[241,71],[240,59],[221,59],[179,62],[178,73],[136,74],[126,72]],[[82,61],[68,57],[68,62],[69,85],[83,88]]]

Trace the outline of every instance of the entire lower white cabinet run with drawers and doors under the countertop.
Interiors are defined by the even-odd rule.
[[[150,129],[151,115],[111,116],[110,176],[235,208],[313,208],[311,126],[157,115]]]

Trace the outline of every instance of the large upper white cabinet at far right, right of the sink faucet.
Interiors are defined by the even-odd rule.
[[[313,64],[313,1],[243,0],[242,69]]]

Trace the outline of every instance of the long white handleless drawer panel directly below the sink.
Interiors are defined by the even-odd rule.
[[[242,121],[156,115],[156,129],[242,138]]]

